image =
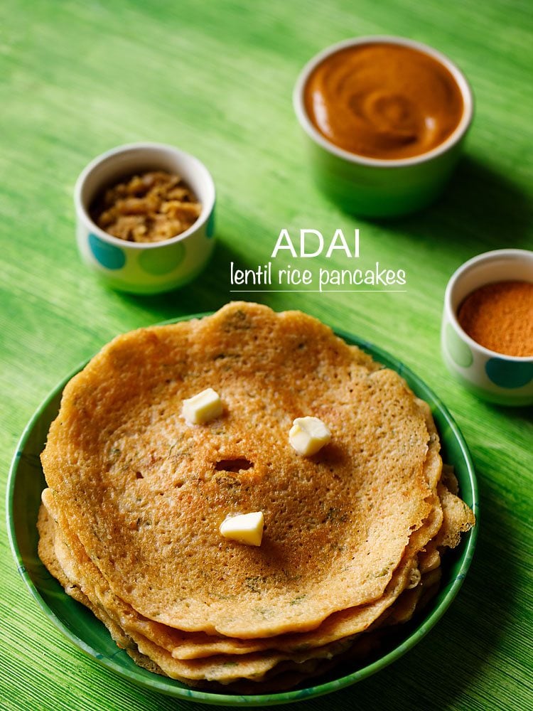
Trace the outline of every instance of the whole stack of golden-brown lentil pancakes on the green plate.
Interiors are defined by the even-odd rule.
[[[189,425],[207,387],[222,416]],[[330,444],[304,457],[296,417]],[[65,387],[42,454],[39,555],[139,665],[260,693],[365,656],[435,592],[474,523],[431,412],[297,311],[228,304],[126,333]],[[260,547],[222,538],[264,513]]]

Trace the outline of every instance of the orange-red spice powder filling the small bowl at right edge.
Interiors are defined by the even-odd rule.
[[[505,355],[533,355],[533,283],[496,282],[475,289],[458,309],[470,338]]]

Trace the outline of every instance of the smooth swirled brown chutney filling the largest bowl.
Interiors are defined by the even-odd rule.
[[[374,42],[328,55],[304,88],[306,112],[341,149],[397,160],[427,153],[461,122],[461,89],[443,63],[409,46]]]

